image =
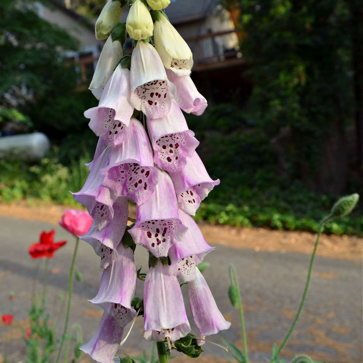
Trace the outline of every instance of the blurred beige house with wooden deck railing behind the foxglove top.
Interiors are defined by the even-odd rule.
[[[56,0],[48,1],[52,9],[39,4],[38,13],[78,38],[79,52],[67,55],[77,62],[82,82],[86,83],[92,78],[103,41],[96,40],[94,25],[89,20]],[[128,12],[127,6],[122,22],[126,22]],[[245,62],[238,45],[238,13],[223,9],[220,0],[171,0],[166,13],[193,52],[192,78],[209,101],[229,101],[249,93],[250,85],[242,79]],[[125,50],[131,53],[131,39],[127,40]]]

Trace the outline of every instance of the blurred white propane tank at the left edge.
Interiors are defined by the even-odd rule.
[[[42,132],[0,137],[0,158],[38,161],[50,149],[50,141]]]

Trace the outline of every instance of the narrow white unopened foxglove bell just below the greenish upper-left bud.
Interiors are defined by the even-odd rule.
[[[110,79],[118,62],[122,58],[122,44],[118,40],[112,41],[111,36],[106,40],[98,58],[97,66],[89,86],[94,97],[100,99],[102,90]]]

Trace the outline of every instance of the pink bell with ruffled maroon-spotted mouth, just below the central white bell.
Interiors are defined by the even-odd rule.
[[[165,117],[147,117],[147,130],[155,151],[154,163],[171,173],[183,170],[185,159],[190,158],[199,145],[174,99],[171,101],[170,112]]]

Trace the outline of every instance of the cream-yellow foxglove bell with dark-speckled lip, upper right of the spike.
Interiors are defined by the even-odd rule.
[[[154,24],[154,42],[165,68],[171,69],[178,76],[189,76],[193,66],[192,51],[162,14]]]

